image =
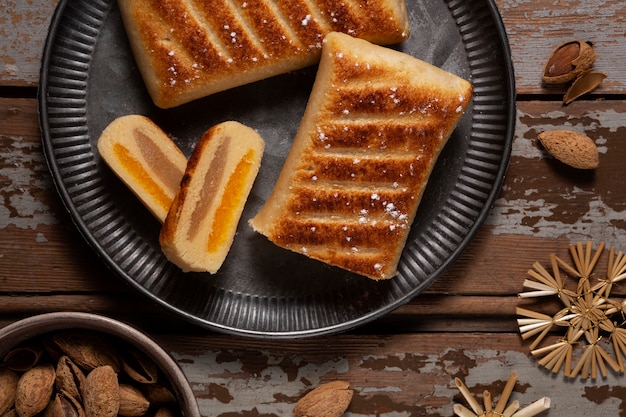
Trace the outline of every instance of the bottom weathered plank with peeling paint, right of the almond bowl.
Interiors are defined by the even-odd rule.
[[[235,348],[231,340],[219,349],[196,348],[194,354],[174,352],[173,356],[190,380],[204,416],[288,416],[301,396],[337,379],[349,381],[355,390],[346,417],[452,416],[455,403],[465,404],[454,385],[455,377],[464,380],[481,402],[484,390],[497,401],[512,370],[519,377],[511,401],[525,406],[550,397],[552,410],[546,416],[624,415],[621,376],[597,381],[555,377],[538,367],[524,347],[519,350],[516,336],[491,336],[494,340],[448,335],[451,347],[443,351],[432,340],[441,337],[436,334],[405,335],[403,343],[398,336],[338,336],[333,339],[337,346],[327,353],[313,349],[310,342],[290,344],[288,352],[286,345],[268,342],[252,354]],[[363,352],[359,340],[377,341],[377,353]],[[209,340],[205,342],[210,345]],[[347,351],[350,345],[353,352]],[[498,345],[502,349],[495,348]]]

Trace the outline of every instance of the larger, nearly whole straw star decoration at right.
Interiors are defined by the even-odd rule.
[[[604,248],[601,243],[594,251],[591,242],[579,242],[569,246],[571,264],[552,254],[551,271],[539,262],[528,271],[532,279],[524,281],[524,288],[529,291],[520,293],[519,297],[556,297],[562,306],[553,315],[517,308],[522,339],[534,339],[531,354],[553,373],[563,369],[570,378],[596,379],[598,371],[606,377],[609,368],[624,372],[626,300],[612,298],[611,290],[626,279],[626,255],[621,251],[616,253],[611,247],[606,274],[598,279],[594,270]],[[575,281],[572,288],[566,285],[568,278]],[[546,335],[559,328],[563,329],[560,340],[541,346]],[[612,353],[605,349],[605,343],[600,343],[604,338],[612,342]],[[574,354],[577,348],[582,349],[582,354]],[[575,359],[576,356],[579,358]]]

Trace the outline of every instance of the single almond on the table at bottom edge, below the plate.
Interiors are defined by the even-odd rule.
[[[353,391],[350,383],[333,381],[320,385],[298,401],[293,409],[295,417],[341,417],[346,412]]]

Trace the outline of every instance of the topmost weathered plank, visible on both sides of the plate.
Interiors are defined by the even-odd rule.
[[[20,2],[6,0],[10,12],[0,17],[0,86],[34,86],[48,25],[58,0]],[[564,87],[547,88],[541,71],[561,42],[581,39],[594,43],[595,68],[608,78],[599,94],[626,91],[624,41],[626,5],[621,0],[545,2],[496,0],[505,25],[521,94],[562,94]]]

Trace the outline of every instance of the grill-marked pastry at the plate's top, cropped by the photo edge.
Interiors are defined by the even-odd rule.
[[[118,0],[148,92],[162,108],[317,63],[330,31],[405,40],[404,0]]]

